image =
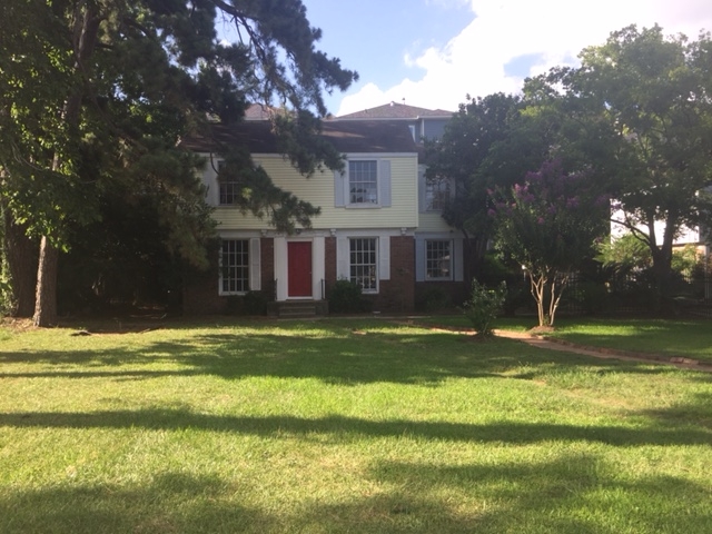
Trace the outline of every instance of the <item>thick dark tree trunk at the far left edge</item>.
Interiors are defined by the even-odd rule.
[[[32,317],[37,280],[37,243],[27,237],[24,228],[14,222],[8,210],[4,212],[4,246],[12,288],[12,315]]]

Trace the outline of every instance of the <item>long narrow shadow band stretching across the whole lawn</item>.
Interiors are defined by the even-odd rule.
[[[641,445],[712,445],[712,433],[694,428],[626,428],[620,426],[576,426],[570,424],[501,422],[487,424],[421,422],[407,419],[372,421],[328,416],[227,416],[188,409],[105,411],[88,413],[21,412],[1,413],[0,426],[40,428],[147,428],[202,429],[236,434],[283,437],[332,436],[349,443],[364,437],[411,437],[451,442],[525,445],[541,442],[587,442],[619,447]]]

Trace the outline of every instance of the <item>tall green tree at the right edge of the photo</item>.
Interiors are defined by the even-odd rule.
[[[615,134],[612,192],[623,215],[613,221],[649,247],[660,306],[675,237],[710,214],[712,40],[631,26],[580,57],[581,68],[553,72],[551,81],[594,102]]]

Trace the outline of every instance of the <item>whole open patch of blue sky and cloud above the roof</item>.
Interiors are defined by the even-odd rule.
[[[696,38],[710,0],[303,0],[319,49],[360,79],[327,98],[335,115],[405,101],[456,110],[466,95],[517,92],[526,76],[575,65],[631,23]],[[405,100],[404,100],[405,99]]]

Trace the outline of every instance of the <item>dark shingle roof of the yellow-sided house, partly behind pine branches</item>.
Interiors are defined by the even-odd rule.
[[[408,127],[399,121],[323,121],[324,138],[339,152],[417,152]],[[209,132],[181,141],[197,152],[212,152],[220,145],[240,145],[251,154],[280,154],[271,122],[249,120],[235,125],[210,125]]]

